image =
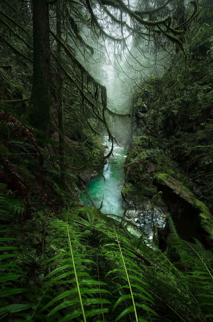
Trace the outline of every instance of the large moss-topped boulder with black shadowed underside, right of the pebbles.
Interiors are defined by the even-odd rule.
[[[197,238],[201,242],[213,238],[213,216],[188,188],[165,173],[155,175],[153,185],[162,191],[162,198],[168,206],[179,207],[172,218],[182,238]]]

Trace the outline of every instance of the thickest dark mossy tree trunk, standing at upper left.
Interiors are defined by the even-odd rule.
[[[32,0],[33,80],[30,100],[32,125],[50,135],[51,64],[49,9],[45,0]]]

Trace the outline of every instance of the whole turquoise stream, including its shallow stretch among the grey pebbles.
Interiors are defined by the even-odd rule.
[[[107,154],[112,146],[112,143],[108,142],[108,136],[104,137],[104,146],[107,146],[105,153]],[[127,151],[125,151],[124,147],[119,147],[117,144],[114,144],[113,147],[113,156],[110,157],[109,164],[107,163],[103,168],[103,175],[105,176],[105,182],[101,175],[97,175],[95,178],[89,180],[85,186],[90,194],[93,202],[96,204],[97,208],[100,207],[101,201],[104,195],[103,204],[101,208],[102,213],[107,214],[114,214],[117,216],[123,217],[124,208],[122,207],[122,195],[121,195],[121,189],[124,185],[124,169],[123,165],[125,163],[125,157],[126,157]],[[122,167],[121,169],[119,169]],[[89,199],[89,196],[87,192],[82,189],[82,193],[80,195],[80,199],[84,201],[88,206],[93,207],[93,204],[91,200]],[[150,244],[150,241],[153,240],[153,231],[151,228],[151,221],[150,221],[150,208],[151,204],[148,202],[146,204],[147,209],[144,210],[144,213],[142,211],[140,214],[138,211],[135,211],[134,209],[130,209],[127,211],[127,214],[125,216],[125,220],[131,221],[134,225],[128,225],[126,228],[129,232],[133,233],[134,235],[140,237],[141,236],[141,229],[144,231],[145,235],[147,236],[147,239],[144,239],[144,241],[147,243],[148,246],[155,249],[152,244]],[[155,208],[154,208],[155,209]],[[154,217],[159,217],[160,213],[157,213],[158,210],[155,209],[154,211]],[[128,216],[128,213],[130,214],[130,217]],[[163,214],[162,214],[163,215]],[[142,224],[138,224],[134,221],[134,219],[129,218],[140,218],[141,221],[143,221]],[[156,221],[156,218],[153,220]],[[161,217],[163,220],[163,218]],[[160,221],[160,220],[159,220]],[[140,228],[140,229],[139,229]]]

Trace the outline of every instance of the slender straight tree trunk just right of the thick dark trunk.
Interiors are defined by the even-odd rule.
[[[56,3],[56,32],[59,39],[61,39],[61,11],[60,0]],[[61,44],[57,42],[57,58],[61,62]],[[64,144],[64,118],[63,118],[63,79],[61,77],[60,67],[57,67],[57,82],[58,82],[58,110],[59,110],[59,142]],[[59,154],[62,156],[60,161],[60,177],[63,183],[65,183],[64,175],[64,148],[59,146]]]

